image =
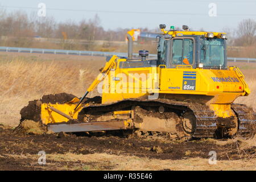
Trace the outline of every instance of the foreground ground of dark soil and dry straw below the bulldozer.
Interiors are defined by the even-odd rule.
[[[184,142],[164,137],[85,137],[75,134],[25,135],[14,133],[12,129],[0,127],[0,169],[1,170],[51,170],[51,169],[117,169],[117,164],[97,160],[85,162],[81,158],[88,156],[117,156],[139,160],[159,160],[186,162],[203,160],[209,166],[209,152],[216,151],[221,162],[245,163],[246,168],[255,170],[256,146],[245,143],[243,139],[214,140],[201,139]],[[255,140],[251,139],[251,140]],[[38,152],[46,152],[46,165],[38,164]],[[76,160],[65,160],[71,156]],[[93,158],[92,158],[93,159]],[[92,160],[91,159],[91,160]],[[94,158],[96,160],[97,158]],[[113,159],[112,159],[113,160]],[[120,160],[120,159],[119,159]],[[97,168],[95,164],[97,163]],[[121,164],[118,164],[121,165]],[[130,167],[130,164],[127,164]],[[193,163],[190,164],[195,165]],[[249,165],[249,166],[248,166]],[[93,167],[94,166],[94,167]],[[211,165],[210,165],[211,166]],[[65,168],[67,167],[67,168]],[[147,169],[154,169],[148,166]],[[169,164],[172,168],[172,164]],[[176,166],[177,167],[177,166]],[[138,167],[137,167],[138,168]],[[197,167],[198,168],[198,167]],[[131,168],[133,169],[133,168]],[[158,166],[161,169],[161,165]],[[188,169],[188,168],[179,168]],[[210,169],[210,168],[208,168]],[[229,168],[222,168],[229,169]]]

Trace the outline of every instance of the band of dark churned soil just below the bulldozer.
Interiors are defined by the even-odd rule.
[[[243,148],[241,142],[218,145],[212,140],[200,139],[192,141],[169,140],[164,137],[104,137],[81,136],[79,134],[43,134],[26,135],[15,133],[11,129],[1,128],[0,154],[4,155],[36,155],[39,151],[46,154],[94,154],[105,153],[115,155],[131,155],[154,159],[188,159],[209,158],[209,151],[216,151],[218,160],[246,159],[255,157],[256,147]],[[20,162],[10,157],[0,158],[1,166],[9,165],[12,169],[23,169]],[[17,164],[18,163],[18,164]],[[26,169],[26,168],[24,168]]]

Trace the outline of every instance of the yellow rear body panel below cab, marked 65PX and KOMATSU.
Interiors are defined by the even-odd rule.
[[[233,101],[238,96],[242,96],[244,92],[242,78],[232,70],[163,68],[160,75],[161,93],[222,95],[224,97],[226,94],[232,97],[228,100]]]

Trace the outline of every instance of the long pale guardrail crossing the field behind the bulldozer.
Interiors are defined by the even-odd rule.
[[[80,56],[112,56],[117,55],[121,57],[127,57],[127,53],[124,52],[101,52],[101,51],[76,51],[76,50],[63,50],[63,49],[39,49],[39,48],[23,48],[23,47],[0,47],[2,52],[27,52],[27,53],[52,53],[60,55],[80,55]],[[138,53],[133,53],[134,56],[138,56]],[[155,54],[150,54],[149,57],[157,57]],[[256,58],[247,57],[228,57],[228,61],[233,62],[247,62],[256,63]]]

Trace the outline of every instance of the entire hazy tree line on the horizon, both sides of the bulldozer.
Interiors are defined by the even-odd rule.
[[[7,13],[0,11],[0,36],[15,38],[57,38],[57,39],[82,39],[88,41],[109,40],[123,41],[129,28],[116,28],[104,30],[100,24],[100,17],[96,14],[93,18],[82,19],[80,22],[67,20],[57,22],[53,17],[39,17],[36,13],[28,15],[24,11]],[[142,31],[152,31],[141,28]],[[230,46],[251,46],[256,43],[256,22],[254,19],[242,20],[236,29],[224,28],[228,33]]]

